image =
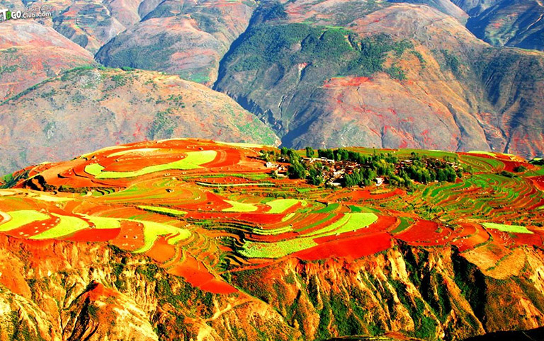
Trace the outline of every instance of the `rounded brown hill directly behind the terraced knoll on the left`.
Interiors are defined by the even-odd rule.
[[[277,144],[271,129],[227,96],[151,71],[68,71],[2,103],[0,122],[0,173],[145,139]]]

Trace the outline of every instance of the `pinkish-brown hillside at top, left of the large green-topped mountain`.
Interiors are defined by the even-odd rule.
[[[255,6],[252,1],[162,1],[103,46],[96,59],[108,67],[165,71],[210,85]]]

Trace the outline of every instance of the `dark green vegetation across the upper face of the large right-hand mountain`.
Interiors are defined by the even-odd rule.
[[[294,45],[300,49],[293,49]],[[389,52],[398,59],[413,47],[409,40],[394,40],[383,33],[361,38],[342,27],[305,23],[255,25],[225,61],[232,63],[234,71],[268,69],[272,64],[289,69],[295,64],[309,63],[322,71],[318,72],[324,79],[371,76],[378,71],[404,79],[402,69],[397,66],[385,69],[383,64]]]

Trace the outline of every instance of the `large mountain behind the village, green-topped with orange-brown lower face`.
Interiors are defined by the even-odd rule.
[[[215,88],[286,146],[542,153],[542,54],[493,50],[428,6],[357,4],[278,5],[232,47]]]

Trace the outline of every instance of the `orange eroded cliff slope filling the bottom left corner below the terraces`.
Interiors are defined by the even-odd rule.
[[[0,250],[0,271],[13,273],[13,282],[0,277],[2,340],[222,341],[268,335],[287,341],[300,335],[259,299],[201,291],[144,256],[105,244],[25,243],[1,235]]]

